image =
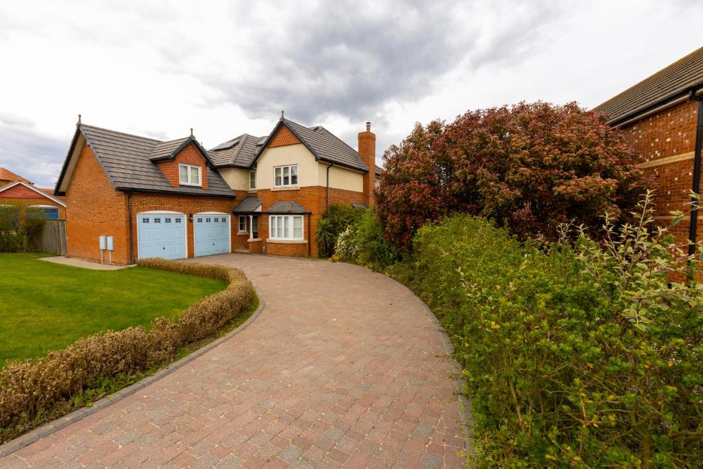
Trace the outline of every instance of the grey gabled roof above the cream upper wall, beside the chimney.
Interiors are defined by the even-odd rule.
[[[328,129],[320,125],[305,127],[288,119],[278,121],[276,127],[274,127],[271,134],[259,148],[256,159],[264,152],[269,141],[281,126],[287,127],[288,130],[310,150],[310,153],[315,155],[316,160],[334,163],[335,165],[356,169],[357,171],[368,172],[369,169],[359,157],[359,153],[356,153],[354,148],[338,139],[332,132],[328,131]]]

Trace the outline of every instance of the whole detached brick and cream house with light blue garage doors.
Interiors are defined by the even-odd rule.
[[[79,122],[55,193],[66,198],[72,257],[101,259],[100,236],[112,236],[118,264],[233,251],[317,257],[328,205],[373,205],[374,162],[368,123],[357,152],[283,117],[269,136],[212,150],[192,134],[158,141]]]

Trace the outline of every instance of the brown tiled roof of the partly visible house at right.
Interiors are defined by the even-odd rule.
[[[618,124],[703,86],[703,47],[659,70],[593,110]]]

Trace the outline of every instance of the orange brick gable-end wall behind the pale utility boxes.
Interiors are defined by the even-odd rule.
[[[84,145],[66,191],[68,255],[100,260],[98,237],[115,237],[112,261],[129,264],[127,196],[110,184],[98,159]]]

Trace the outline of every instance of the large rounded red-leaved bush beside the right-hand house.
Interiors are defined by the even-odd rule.
[[[603,213],[636,206],[650,186],[636,158],[604,115],[576,103],[472,111],[417,124],[386,150],[378,214],[387,240],[405,250],[420,226],[453,213],[555,240],[561,223],[598,227]]]

